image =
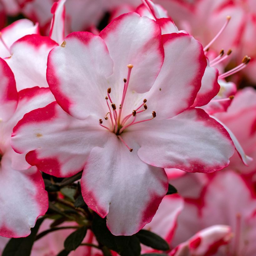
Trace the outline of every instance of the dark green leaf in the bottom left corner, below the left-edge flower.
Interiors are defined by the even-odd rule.
[[[10,239],[3,250],[2,256],[29,256],[37,231],[43,220],[43,218],[37,220],[36,225],[31,229],[31,234],[29,236]]]

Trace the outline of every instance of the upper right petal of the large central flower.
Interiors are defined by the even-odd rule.
[[[173,117],[193,104],[206,67],[203,48],[194,37],[173,33],[162,38],[164,64],[145,95],[156,119]]]

